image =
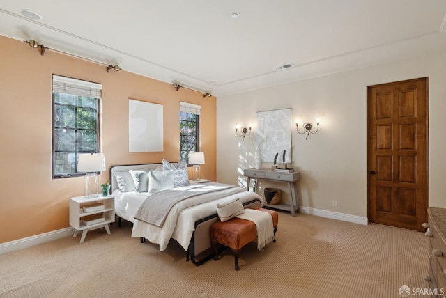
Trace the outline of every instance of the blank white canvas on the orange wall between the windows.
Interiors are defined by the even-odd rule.
[[[129,152],[162,152],[164,143],[162,104],[128,100]]]

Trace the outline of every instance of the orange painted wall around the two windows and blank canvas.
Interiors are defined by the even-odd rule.
[[[84,177],[52,179],[52,74],[102,84],[101,151],[109,179],[115,164],[179,159],[180,101],[201,105],[201,177],[215,180],[216,99],[51,49],[40,56],[0,36],[0,243],[66,228],[68,201],[82,196]],[[164,152],[128,152],[128,99],[163,104]]]

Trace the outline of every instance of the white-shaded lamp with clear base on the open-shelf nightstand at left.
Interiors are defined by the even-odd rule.
[[[95,198],[98,194],[98,172],[105,171],[105,157],[102,153],[79,154],[77,171],[85,172],[84,196]]]

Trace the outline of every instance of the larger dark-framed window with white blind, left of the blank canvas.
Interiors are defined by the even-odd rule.
[[[53,75],[53,178],[77,173],[79,153],[99,152],[100,84]]]

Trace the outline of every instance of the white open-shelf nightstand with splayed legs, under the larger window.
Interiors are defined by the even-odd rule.
[[[97,207],[92,207],[92,205]],[[84,207],[90,207],[93,211],[86,212]],[[95,221],[98,222],[95,223]],[[82,230],[80,243],[84,242],[89,230],[103,227],[107,234],[110,234],[109,224],[112,222],[114,222],[114,196],[97,196],[95,198],[77,196],[70,198],[70,226],[75,228],[73,237],[77,237],[79,230]]]

